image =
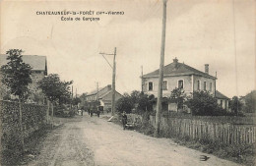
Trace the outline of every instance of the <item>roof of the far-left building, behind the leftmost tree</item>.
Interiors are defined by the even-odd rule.
[[[6,65],[8,60],[6,59],[8,55],[0,55],[0,66]],[[30,64],[32,71],[45,71],[46,68],[46,56],[38,55],[23,55],[23,61],[26,64]]]

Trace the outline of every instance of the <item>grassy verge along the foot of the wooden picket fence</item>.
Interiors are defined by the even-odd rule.
[[[136,127],[136,131],[147,136],[154,136],[155,128],[144,123]],[[204,153],[213,154],[220,158],[236,162],[246,166],[255,165],[256,143],[248,144],[219,144],[203,140],[193,140],[191,138],[179,138],[160,133],[160,138],[171,138],[176,143],[188,148],[200,150]]]

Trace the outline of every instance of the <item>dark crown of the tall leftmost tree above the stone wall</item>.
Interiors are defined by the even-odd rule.
[[[32,83],[32,67],[23,62],[21,49],[10,49],[8,54],[7,65],[1,67],[2,83],[10,88],[10,92],[19,98],[24,99],[28,93],[29,83]]]

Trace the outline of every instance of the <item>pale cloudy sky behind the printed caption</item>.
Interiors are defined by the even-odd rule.
[[[26,55],[46,56],[48,73],[74,81],[79,94],[94,90],[97,82],[111,84],[112,69],[99,52],[113,54],[114,47],[121,93],[141,89],[142,66],[144,74],[159,69],[160,0],[1,1],[0,9],[0,53],[19,48]],[[73,21],[36,15],[65,10],[95,15],[64,16]],[[96,15],[98,11],[124,15]],[[165,65],[175,57],[200,71],[209,64],[210,74],[217,72],[217,89],[228,97],[255,89],[254,0],[168,0],[166,17]],[[111,64],[112,58],[106,56]]]

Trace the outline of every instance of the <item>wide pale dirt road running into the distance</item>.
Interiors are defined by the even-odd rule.
[[[29,165],[99,166],[235,166],[210,154],[180,146],[168,138],[151,138],[105,119],[77,118],[51,133],[39,156]]]

